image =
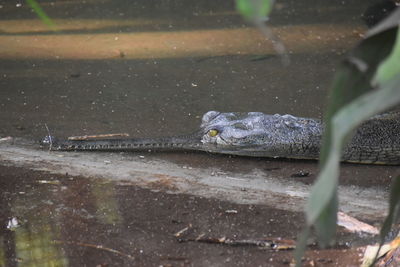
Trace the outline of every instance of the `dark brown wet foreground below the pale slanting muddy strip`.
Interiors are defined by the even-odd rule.
[[[302,213],[263,205],[0,170],[0,266],[289,266],[290,250],[182,242],[174,234],[192,225],[180,239],[295,239],[303,222]],[[360,252],[311,249],[304,266],[357,266]]]

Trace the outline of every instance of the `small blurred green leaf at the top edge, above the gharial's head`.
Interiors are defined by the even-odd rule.
[[[236,0],[236,10],[251,21],[265,20],[272,10],[272,0]]]

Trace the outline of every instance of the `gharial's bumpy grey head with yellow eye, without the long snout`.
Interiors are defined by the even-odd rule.
[[[261,112],[209,111],[204,114],[200,128],[204,150],[270,157],[285,156],[294,143],[307,144],[311,141],[309,137],[319,138],[321,132],[317,120]]]

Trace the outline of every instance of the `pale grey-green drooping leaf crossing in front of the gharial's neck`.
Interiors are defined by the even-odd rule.
[[[316,223],[321,215],[330,207],[330,202],[335,201],[337,180],[339,176],[339,160],[341,150],[349,135],[361,122],[372,115],[400,103],[400,73],[392,80],[386,82],[380,90],[368,92],[339,110],[332,118],[332,141],[330,151],[313,186],[307,205],[307,223]],[[334,210],[330,209],[331,212]],[[333,218],[333,216],[332,216]],[[326,224],[327,227],[332,223]]]

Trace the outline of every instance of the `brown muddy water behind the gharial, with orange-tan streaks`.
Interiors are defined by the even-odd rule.
[[[56,136],[177,134],[209,110],[320,117],[366,5],[282,1],[271,29],[291,55],[284,67],[230,1],[45,3],[58,33],[4,3],[0,134],[41,138],[44,123]]]

